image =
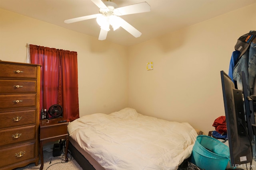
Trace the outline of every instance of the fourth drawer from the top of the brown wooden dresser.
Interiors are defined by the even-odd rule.
[[[0,128],[34,124],[36,123],[36,110],[0,113],[0,122]]]

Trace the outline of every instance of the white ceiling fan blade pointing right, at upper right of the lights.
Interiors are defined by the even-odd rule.
[[[150,5],[147,2],[141,2],[138,4],[128,5],[114,9],[114,14],[117,16],[136,14],[142,12],[150,12]]]

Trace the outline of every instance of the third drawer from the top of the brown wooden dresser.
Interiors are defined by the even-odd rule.
[[[0,109],[36,106],[36,94],[0,95]]]

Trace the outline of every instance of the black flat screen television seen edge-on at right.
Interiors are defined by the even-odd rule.
[[[252,145],[248,135],[248,122],[244,109],[243,90],[234,86],[224,71],[220,72],[226,115],[230,160],[233,167],[252,163]],[[251,126],[251,125],[249,125]]]

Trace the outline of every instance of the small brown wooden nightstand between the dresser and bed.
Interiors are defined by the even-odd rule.
[[[40,158],[41,158],[41,166],[40,170],[44,168],[44,156],[43,156],[43,145],[48,142],[54,142],[59,139],[66,140],[66,151],[65,158],[66,162],[68,162],[68,122],[58,123],[58,121],[64,120],[64,118],[56,118],[40,120]]]

